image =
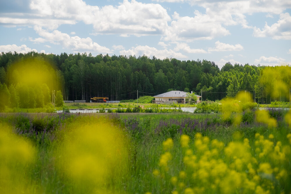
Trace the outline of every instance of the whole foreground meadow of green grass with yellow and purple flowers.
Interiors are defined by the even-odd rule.
[[[291,116],[269,115],[2,113],[0,191],[290,193]]]

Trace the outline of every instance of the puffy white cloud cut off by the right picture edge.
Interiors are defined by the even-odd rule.
[[[280,14],[277,23],[268,26],[267,22],[262,30],[254,27],[255,37],[272,37],[273,39],[291,40],[291,16],[289,13]]]

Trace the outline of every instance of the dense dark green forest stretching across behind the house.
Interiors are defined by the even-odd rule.
[[[61,90],[64,100],[89,102],[91,97],[109,97],[109,100],[136,99],[137,90],[139,95],[181,90],[193,91],[199,95],[202,91],[203,100],[214,101],[226,96],[233,97],[237,92],[246,90],[258,103],[270,103],[271,100],[289,101],[291,75],[286,74],[286,71],[290,72],[289,66],[285,66],[287,68],[285,70],[280,70],[284,74],[282,77],[280,72],[280,75],[271,75],[274,72],[272,69],[269,70],[269,74],[264,74],[263,72],[268,72],[266,69],[269,68],[265,66],[226,63],[220,70],[214,62],[199,59],[181,61],[175,58],[161,60],[147,56],[128,57],[108,54],[92,56],[91,53],[55,55],[36,52],[27,54],[2,52],[0,54],[1,85],[16,90],[17,85],[21,83],[11,78],[13,74],[17,75],[18,69],[13,68],[15,63],[24,67],[29,63],[36,63],[38,66],[45,64],[46,69],[53,68],[58,84],[42,83],[40,87],[45,91],[44,93],[48,90]],[[48,67],[47,63],[51,67]],[[276,77],[281,78],[278,80]],[[271,90],[276,87],[274,85],[276,82],[281,84],[280,81],[285,85],[282,86],[283,88],[277,87],[276,91],[279,92],[273,95]],[[37,82],[41,83],[41,81]],[[267,84],[269,82],[272,86]],[[14,91],[13,88],[11,90]],[[19,89],[19,93],[21,92]]]

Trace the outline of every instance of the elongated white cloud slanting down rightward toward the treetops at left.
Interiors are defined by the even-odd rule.
[[[70,36],[66,33],[62,33],[58,30],[52,31],[52,33],[43,30],[39,26],[35,26],[34,30],[41,36],[41,38],[32,39],[30,41],[50,42],[55,45],[62,45],[64,48],[72,49],[74,51],[95,51],[103,54],[112,53],[107,47],[100,46],[96,42],[93,42],[91,38],[80,38],[79,36]]]

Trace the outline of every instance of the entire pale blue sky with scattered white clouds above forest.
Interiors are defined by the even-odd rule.
[[[0,52],[291,65],[290,0],[0,1]]]

